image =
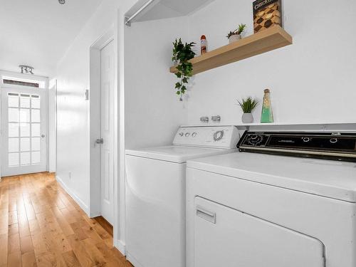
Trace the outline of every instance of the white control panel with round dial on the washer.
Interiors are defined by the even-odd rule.
[[[173,145],[234,149],[238,142],[239,130],[235,126],[180,127]]]

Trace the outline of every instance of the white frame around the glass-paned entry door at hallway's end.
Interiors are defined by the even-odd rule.
[[[1,99],[1,88],[18,88],[19,85],[10,85],[10,84],[6,84],[3,83],[3,79],[5,77],[11,77],[11,78],[19,78],[19,79],[26,79],[26,80],[34,80],[34,81],[39,81],[39,82],[43,82],[44,83],[44,87],[43,88],[38,88],[38,90],[46,90],[46,112],[48,113],[48,77],[45,76],[41,76],[41,75],[28,75],[28,74],[23,74],[23,73],[15,73],[13,71],[9,71],[9,70],[0,70],[0,99]],[[21,86],[21,85],[20,85]],[[23,88],[28,88],[27,86],[23,86]],[[30,87],[31,88],[31,87]],[[48,171],[48,162],[49,162],[49,136],[48,136],[48,132],[49,132],[49,117],[47,116],[46,118],[46,158],[47,158],[47,162],[46,162],[46,170]],[[2,133],[2,129],[1,129],[1,101],[0,101],[0,150],[2,148],[2,142],[3,142],[3,135]],[[0,182],[1,182],[1,177],[2,177],[2,158],[0,157]]]

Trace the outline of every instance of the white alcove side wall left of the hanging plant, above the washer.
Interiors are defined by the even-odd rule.
[[[177,26],[179,25],[179,26]],[[172,42],[187,35],[187,19],[132,23],[125,28],[125,145],[170,145],[184,120],[184,103],[169,73]]]

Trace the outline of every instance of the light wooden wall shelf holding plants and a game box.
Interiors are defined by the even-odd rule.
[[[283,46],[289,46],[292,43],[292,36],[284,31],[281,26],[276,25],[259,33],[242,38],[234,43],[230,43],[227,46],[221,46],[202,56],[192,58],[190,62],[193,63],[193,73],[198,74]],[[173,66],[169,71],[176,73],[177,69]]]

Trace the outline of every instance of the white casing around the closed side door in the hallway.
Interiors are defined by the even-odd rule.
[[[100,198],[100,146],[95,147],[95,140],[100,138],[100,51],[107,46],[111,41],[114,41],[114,65],[115,65],[115,76],[114,76],[114,125],[113,129],[113,167],[114,167],[114,195],[113,199],[116,199],[117,190],[117,45],[115,41],[115,30],[114,26],[110,30],[100,36],[92,46],[90,46],[90,90],[89,90],[89,124],[90,124],[90,197],[89,197],[89,216],[95,217],[101,215],[101,198]],[[115,229],[117,226],[117,204],[114,201],[114,225]],[[115,231],[115,230],[114,230]]]

